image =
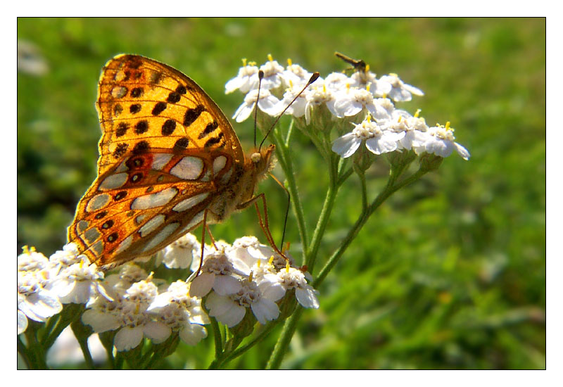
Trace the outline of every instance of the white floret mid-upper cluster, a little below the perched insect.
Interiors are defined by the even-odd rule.
[[[374,103],[374,96],[368,89],[349,89],[336,95],[334,110],[339,118],[357,115],[366,109],[376,120],[390,118],[386,108],[379,103]]]

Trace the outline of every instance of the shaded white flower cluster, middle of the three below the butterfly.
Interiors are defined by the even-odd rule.
[[[120,351],[137,347],[143,337],[163,343],[172,332],[189,345],[207,337],[203,324],[208,324],[208,317],[201,300],[189,296],[189,284],[158,282],[134,263],[122,266],[104,281],[112,300],[101,296],[91,300],[82,322],[98,333],[118,329],[113,343]]]

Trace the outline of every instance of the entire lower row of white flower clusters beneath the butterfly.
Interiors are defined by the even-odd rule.
[[[191,266],[196,272],[201,244],[186,234],[159,255],[167,267]],[[49,259],[26,247],[18,256],[18,334],[27,329],[28,318],[45,322],[63,304],[84,303],[82,322],[96,333],[117,330],[114,345],[119,351],[137,347],[144,337],[163,343],[172,332],[196,345],[207,336],[203,325],[209,318],[201,307],[206,296],[209,314],[229,327],[241,322],[247,308],[261,324],[277,319],[277,301],[287,291],[294,290],[304,307],[319,307],[305,273],[253,236],[232,246],[222,241],[205,246],[201,272],[194,274],[169,285],[129,262],[104,279],[72,243]]]

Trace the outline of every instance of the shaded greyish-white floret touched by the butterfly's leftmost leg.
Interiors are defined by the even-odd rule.
[[[203,261],[201,274],[191,281],[189,294],[201,298],[212,288],[222,296],[236,293],[241,288],[239,279],[234,277],[236,274],[243,275],[233,267],[224,252],[211,253]]]

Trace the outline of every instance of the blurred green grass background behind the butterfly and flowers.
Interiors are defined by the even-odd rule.
[[[18,19],[18,253],[65,243],[75,205],[96,177],[94,102],[101,67],[139,53],[196,80],[231,117],[224,94],[241,58],[290,57],[322,76],[346,65],[397,72],[426,96],[426,122],[451,121],[457,155],[392,196],[319,289],[282,367],[296,369],[545,368],[545,19]],[[251,147],[252,120],[234,125]],[[301,134],[293,152],[310,233],[324,200],[322,158]],[[278,172],[278,177],[282,177]],[[369,170],[372,198],[386,165]],[[360,211],[358,179],[341,191],[322,245],[339,246]],[[267,193],[279,240],[284,193]],[[253,210],[213,226],[217,239],[265,241]],[[198,231],[199,233],[199,231]],[[300,257],[290,215],[291,253]],[[260,368],[277,331],[233,368]],[[206,367],[213,340],[180,345],[163,367]],[[76,367],[76,366],[74,366]],[[78,366],[80,367],[80,365]]]

